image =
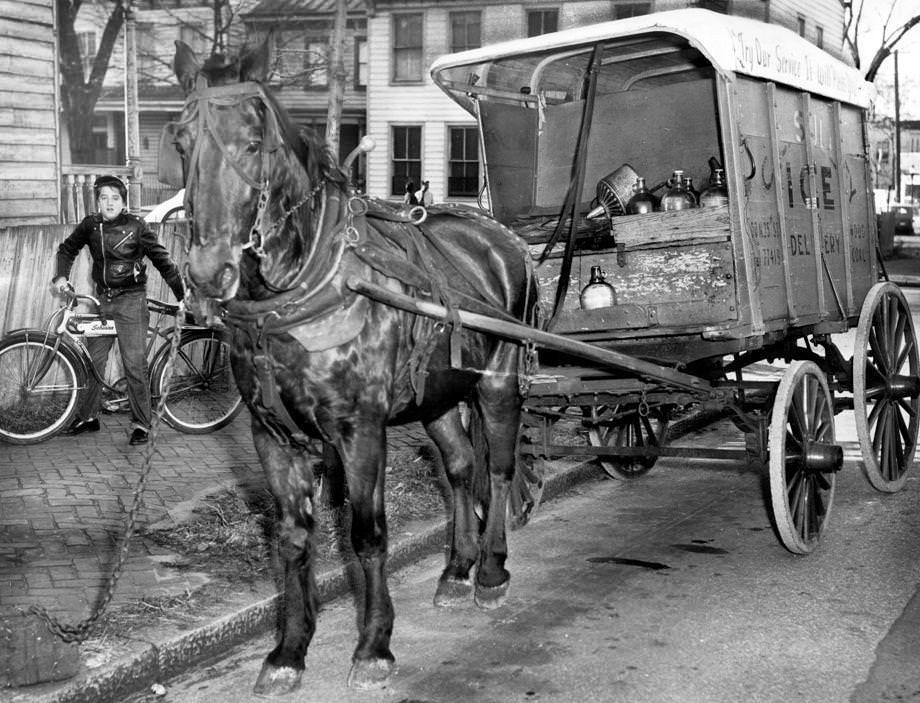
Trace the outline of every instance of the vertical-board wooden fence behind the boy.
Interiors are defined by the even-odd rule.
[[[180,266],[185,261],[188,223],[179,220],[151,225]],[[19,327],[41,327],[60,304],[49,287],[54,276],[58,245],[73,231],[73,225],[24,225],[0,229],[0,332]],[[159,272],[147,265],[147,294],[174,301],[172,291]],[[90,279],[90,256],[84,249],[71,271],[78,293],[95,295]]]

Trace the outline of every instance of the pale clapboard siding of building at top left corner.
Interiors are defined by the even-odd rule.
[[[0,227],[59,219],[53,2],[0,0]]]

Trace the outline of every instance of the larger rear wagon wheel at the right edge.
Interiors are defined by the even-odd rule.
[[[917,447],[920,413],[917,337],[904,294],[878,283],[863,302],[853,354],[853,410],[866,478],[900,490]]]

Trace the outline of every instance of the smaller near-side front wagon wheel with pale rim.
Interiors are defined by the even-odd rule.
[[[834,402],[824,373],[798,361],[783,374],[770,420],[770,499],[783,545],[808,554],[834,502],[843,450],[834,440]]]

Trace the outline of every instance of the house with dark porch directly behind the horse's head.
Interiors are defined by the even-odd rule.
[[[175,41],[184,41],[202,58],[212,51],[214,8],[202,0],[138,0],[136,2],[140,165],[144,207],[169,197],[174,189],[157,181],[157,153],[163,125],[174,119],[185,102],[172,72]],[[236,6],[235,6],[236,7]],[[84,5],[78,31],[93,51],[95,34],[104,23],[99,12],[108,6]],[[294,122],[322,132],[326,122],[328,76],[326,55],[332,32],[335,0],[248,0],[224,18],[230,53],[254,45],[271,31],[274,70],[270,85]],[[340,133],[340,158],[364,135],[366,88],[366,19],[362,0],[348,0],[346,30],[347,87]],[[113,52],[106,89],[96,105],[94,132],[99,163],[122,164],[124,148],[123,40]],[[361,178],[359,174],[359,178]]]

